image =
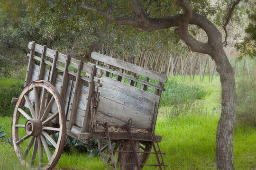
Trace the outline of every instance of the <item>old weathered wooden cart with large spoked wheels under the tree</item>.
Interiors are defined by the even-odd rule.
[[[53,169],[67,134],[83,143],[97,139],[102,160],[113,169],[165,169],[157,143],[162,136],[154,134],[165,75],[96,52],[93,64],[35,42],[28,48],[25,88],[12,101],[12,143],[21,163]],[[146,164],[150,153],[157,163]]]

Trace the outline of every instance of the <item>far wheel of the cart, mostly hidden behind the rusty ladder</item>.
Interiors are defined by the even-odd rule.
[[[113,150],[123,150],[123,145],[120,144],[118,141],[111,141],[111,145],[114,148]],[[98,149],[99,149],[99,154],[101,155],[101,159],[105,164],[110,163],[110,156],[109,154],[106,154],[104,151],[108,151],[109,147],[108,144],[104,144],[103,140],[98,140]],[[152,149],[152,144],[148,142],[141,142],[139,143],[139,148],[140,151],[145,151],[145,152],[150,152]],[[124,149],[126,150],[126,149]],[[114,153],[115,154],[115,153]],[[121,153],[118,153],[118,160],[119,156]],[[140,163],[146,163],[150,153],[138,153],[138,159]],[[117,163],[117,162],[116,162]],[[124,163],[124,162],[123,162]],[[143,168],[144,165],[141,165],[140,168]]]

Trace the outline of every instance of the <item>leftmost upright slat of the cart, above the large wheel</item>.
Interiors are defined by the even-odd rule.
[[[36,49],[36,42],[30,42],[30,57],[28,61],[28,66],[27,66],[27,74],[25,78],[25,85],[28,85],[31,82],[31,76],[33,74],[33,68],[35,65],[35,59],[33,58],[33,55],[35,54],[35,49]],[[32,56],[32,57],[31,57]]]

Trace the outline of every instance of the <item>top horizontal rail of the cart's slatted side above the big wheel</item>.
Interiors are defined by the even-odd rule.
[[[28,43],[28,49],[31,50],[32,48],[32,42],[29,42]],[[42,45],[39,45],[39,44],[36,44],[35,45],[35,51],[38,52],[38,53],[42,53],[42,50],[43,50],[43,46]],[[54,50],[51,50],[49,48],[46,48],[46,56],[47,57],[50,57],[52,59],[54,59],[54,55],[55,55],[55,51]],[[62,53],[59,53],[58,55],[58,61],[62,62],[62,63],[65,63],[66,60],[67,60],[67,56],[62,54]],[[71,62],[70,62],[70,66],[74,67],[74,68],[78,68],[78,65],[79,65],[80,61],[77,60],[77,59],[73,59],[71,58]],[[91,68],[92,66],[91,65],[88,65],[86,63],[83,63],[85,66],[83,66],[83,69],[82,71],[86,72],[86,73],[89,73],[91,74]],[[102,71],[100,69],[97,69],[96,70],[96,77],[101,77],[102,76]]]

